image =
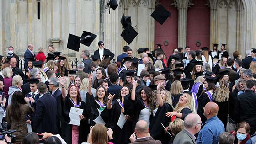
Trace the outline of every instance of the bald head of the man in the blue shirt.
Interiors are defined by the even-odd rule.
[[[217,116],[219,111],[219,107],[214,102],[208,102],[205,107],[203,108],[204,116],[209,119],[211,117]]]

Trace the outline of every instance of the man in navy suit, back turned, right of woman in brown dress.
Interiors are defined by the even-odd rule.
[[[43,82],[37,84],[40,98],[37,100],[35,120],[32,124],[37,133],[58,133],[56,126],[57,103],[53,96],[48,94]]]

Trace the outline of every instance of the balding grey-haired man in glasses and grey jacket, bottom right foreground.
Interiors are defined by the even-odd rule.
[[[184,119],[184,128],[178,133],[173,141],[173,144],[197,144],[195,134],[202,127],[201,117],[196,113],[187,115]]]

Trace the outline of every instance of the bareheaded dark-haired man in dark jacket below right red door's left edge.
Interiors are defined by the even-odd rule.
[[[191,74],[190,74],[190,72],[192,72],[193,71],[193,68],[194,68],[194,66],[195,66],[195,63],[193,63],[193,62],[195,62],[195,61],[197,61],[196,59],[195,59],[195,57],[196,57],[196,52],[195,51],[193,51],[193,50],[191,50],[191,51],[189,51],[189,53],[188,53],[188,59],[190,60],[189,61],[189,63],[187,64],[187,66],[185,67],[185,75],[186,75],[186,78],[189,78],[189,79],[191,79]]]

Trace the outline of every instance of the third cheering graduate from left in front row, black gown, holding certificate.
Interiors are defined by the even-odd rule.
[[[132,134],[132,122],[133,122],[133,103],[128,100],[131,95],[135,95],[135,89],[131,91],[128,86],[123,86],[119,97],[112,101],[111,105],[111,118],[109,127],[114,131],[113,139],[115,144],[128,144],[130,143],[130,136]],[[117,125],[118,121],[125,121],[122,125]],[[121,128],[122,127],[122,128]]]

